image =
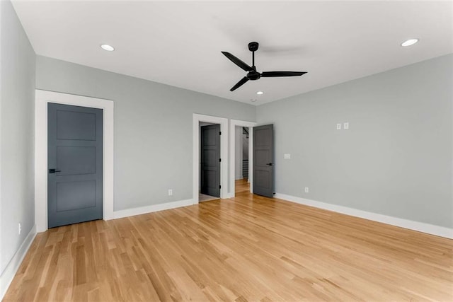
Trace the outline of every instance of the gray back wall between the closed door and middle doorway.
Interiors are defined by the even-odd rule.
[[[115,101],[115,210],[192,198],[193,113],[248,121],[256,113],[246,103],[40,56],[36,88]]]

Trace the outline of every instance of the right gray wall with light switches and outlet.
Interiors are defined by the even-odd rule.
[[[452,74],[449,54],[260,105],[276,191],[452,228]]]

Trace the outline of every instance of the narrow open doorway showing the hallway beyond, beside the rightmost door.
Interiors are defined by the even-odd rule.
[[[249,173],[249,127],[236,126],[234,129],[234,192],[241,194],[250,192]]]

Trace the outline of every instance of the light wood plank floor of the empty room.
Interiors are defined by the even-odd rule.
[[[453,301],[452,242],[242,192],[40,233],[4,300]]]

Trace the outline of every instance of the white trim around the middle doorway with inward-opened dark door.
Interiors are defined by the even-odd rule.
[[[228,119],[224,117],[213,117],[210,115],[193,114],[193,201],[198,203],[198,187],[199,187],[199,173],[200,173],[200,122],[212,122],[220,124],[220,158],[222,163],[220,165],[220,198],[227,198],[228,189]]]

